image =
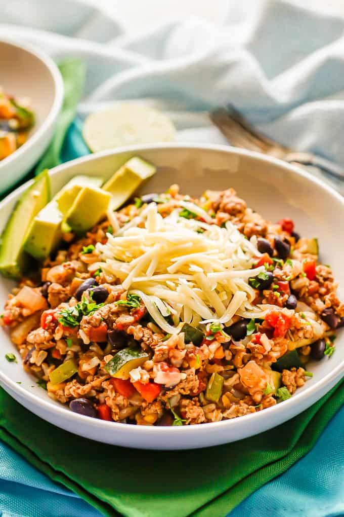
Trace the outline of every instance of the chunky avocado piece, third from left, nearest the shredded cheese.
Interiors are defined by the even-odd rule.
[[[85,233],[106,214],[111,194],[103,189],[84,187],[63,219],[62,230]]]

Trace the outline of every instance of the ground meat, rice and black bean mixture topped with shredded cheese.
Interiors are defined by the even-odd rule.
[[[78,179],[33,216],[23,249],[42,262],[2,318],[24,368],[74,412],[139,425],[231,419],[290,398],[343,323],[317,239],[231,188],[194,199],[173,185],[120,208],[119,185],[154,173],[136,160],[120,183]],[[90,212],[100,221],[85,232]]]

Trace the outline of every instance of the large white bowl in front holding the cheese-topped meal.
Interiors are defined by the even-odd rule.
[[[344,242],[344,200],[319,180],[291,165],[257,153],[224,146],[150,145],[105,151],[65,163],[51,171],[55,193],[76,174],[108,178],[132,156],[140,155],[158,166],[158,173],[142,192],[162,192],[173,183],[181,191],[194,195],[207,188],[234,187],[249,206],[277,221],[291,217],[296,229],[309,237],[318,237],[320,255],[331,264],[336,280],[344,285],[342,252]],[[29,185],[23,185],[0,204],[3,227],[15,202]],[[0,279],[0,303],[7,299],[11,282]],[[341,295],[343,292],[340,293]],[[219,445],[252,436],[301,413],[320,399],[344,372],[344,335],[338,332],[336,351],[307,367],[314,372],[305,386],[289,400],[259,413],[217,423],[185,427],[141,427],[107,422],[72,413],[53,402],[46,391],[37,387],[34,377],[24,372],[18,352],[5,330],[1,330],[0,384],[11,396],[45,420],[72,433],[99,442],[143,449],[191,449]],[[15,352],[18,364],[7,362],[5,354]],[[22,384],[17,384],[21,382]]]

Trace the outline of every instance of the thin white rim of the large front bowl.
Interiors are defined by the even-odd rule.
[[[246,149],[239,149],[232,146],[227,145],[217,145],[217,144],[195,144],[195,143],[157,143],[157,144],[146,144],[146,145],[132,145],[132,146],[125,146],[125,147],[119,147],[117,149],[110,149],[105,151],[99,151],[98,153],[89,154],[80,158],[76,158],[75,160],[71,160],[69,162],[62,163],[55,168],[51,169],[49,171],[51,176],[54,176],[56,174],[59,174],[64,169],[69,169],[73,167],[74,165],[78,165],[80,163],[84,162],[92,162],[93,160],[97,160],[99,158],[103,158],[106,156],[112,156],[112,155],[120,155],[122,153],[140,153],[140,151],[145,150],[154,150],[154,149],[198,149],[200,151],[202,150],[212,150],[212,151],[220,151],[223,153],[227,153],[230,155],[240,155],[240,156],[249,156],[251,158],[257,159],[261,162],[267,162],[272,165],[276,165],[279,168],[283,168],[287,172],[291,172],[293,174],[297,174],[299,176],[303,176],[307,180],[311,181],[312,183],[318,185],[321,189],[327,191],[330,195],[335,197],[337,201],[342,205],[344,209],[344,197],[342,197],[338,192],[336,192],[332,187],[326,185],[321,181],[320,179],[312,176],[307,171],[298,168],[297,166],[291,165],[289,163],[286,163],[282,160],[279,160],[274,157],[266,156],[261,153],[258,153],[256,151],[249,151]],[[10,193],[8,196],[5,197],[5,199],[0,202],[0,211],[1,209],[9,203],[14,197],[17,197],[20,195],[25,189],[27,189],[30,184],[32,184],[33,180],[27,181],[22,186],[15,189],[12,193]],[[292,406],[296,406],[298,403],[302,406],[302,402],[304,402],[307,398],[312,398],[312,394],[316,394],[316,392],[319,392],[324,388],[326,390],[326,385],[330,385],[331,381],[335,382],[339,381],[340,374],[344,372],[344,359],[338,363],[335,368],[327,373],[324,377],[319,379],[313,386],[310,386],[309,388],[305,389],[301,393],[295,393],[290,399],[284,401],[282,404],[276,404],[274,406],[265,408],[264,411],[260,411],[258,413],[251,413],[248,415],[244,415],[244,422],[247,423],[247,425],[250,424],[250,422],[253,420],[254,423],[258,424],[259,422],[263,422],[266,418],[272,415],[281,414],[283,411],[288,413],[288,408],[291,409]],[[101,420],[98,418],[90,418],[84,415],[79,415],[77,413],[73,413],[69,408],[65,407],[64,405],[55,405],[52,402],[48,400],[43,400],[40,397],[38,397],[35,393],[31,393],[30,391],[26,390],[21,385],[18,385],[15,383],[11,378],[9,378],[5,373],[2,372],[0,367],[0,381],[2,381],[5,385],[7,385],[11,390],[13,390],[15,393],[19,395],[21,399],[28,399],[34,406],[41,406],[42,409],[46,409],[48,413],[54,413],[56,416],[61,416],[64,419],[68,419],[69,421],[74,421],[75,424],[88,424],[92,428],[98,427],[99,429],[109,430],[112,429],[113,431],[120,431],[124,430],[126,433],[129,433],[133,436],[136,435],[136,433],[140,433],[141,436],[146,435],[147,437],[152,437],[155,433],[165,433],[166,436],[170,433],[180,433],[181,435],[186,433],[192,433],[197,430],[199,433],[207,433],[211,432],[212,430],[218,430],[219,426],[220,428],[224,428],[224,426],[230,426],[230,425],[238,425],[239,422],[237,418],[234,419],[228,419],[228,420],[222,420],[219,422],[208,422],[206,425],[204,424],[193,424],[193,425],[183,425],[183,426],[170,426],[170,427],[163,427],[163,426],[144,426],[144,425],[135,425],[135,424],[125,424],[125,428],[123,428],[123,424],[120,422],[108,422],[106,420]],[[331,388],[330,388],[331,389]],[[327,390],[329,391],[329,390]],[[326,391],[325,391],[326,392]],[[308,407],[308,406],[307,406]],[[284,409],[283,409],[284,408]],[[291,412],[289,411],[289,414]],[[242,417],[239,418],[241,420]],[[290,417],[289,417],[290,418]],[[287,419],[289,419],[287,418]],[[113,427],[115,426],[115,427]],[[139,428],[139,429],[138,429]],[[177,430],[176,430],[177,429]],[[259,431],[260,432],[260,431]],[[75,433],[77,434],[77,433]],[[257,433],[253,433],[257,434]],[[240,438],[238,438],[240,439]]]

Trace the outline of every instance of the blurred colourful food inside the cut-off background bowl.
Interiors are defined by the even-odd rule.
[[[35,124],[29,99],[8,95],[0,86],[0,160],[23,145]]]

